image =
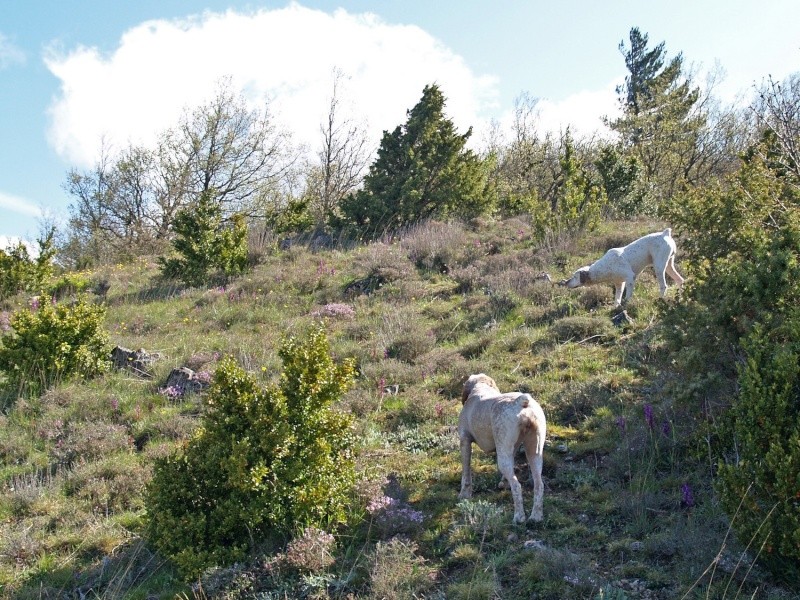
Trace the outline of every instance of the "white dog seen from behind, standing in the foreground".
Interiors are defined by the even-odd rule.
[[[497,467],[509,483],[514,499],[514,523],[524,523],[522,486],[514,475],[514,453],[523,444],[533,476],[530,519],[541,521],[544,496],[542,451],[547,428],[542,407],[528,394],[501,394],[494,380],[483,373],[470,375],[464,383],[461,403],[463,407],[458,417],[461,493],[458,497],[472,497],[472,442],[475,442],[484,452],[497,453]]]

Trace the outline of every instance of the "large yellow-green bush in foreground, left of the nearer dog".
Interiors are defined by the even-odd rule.
[[[333,408],[353,378],[322,330],[288,338],[278,385],[232,359],[217,367],[203,426],[156,462],[150,537],[183,574],[242,560],[254,544],[345,520],[355,480],[351,417]]]

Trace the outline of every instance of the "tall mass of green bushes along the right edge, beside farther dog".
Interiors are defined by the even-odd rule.
[[[679,392],[723,407],[701,432],[728,458],[717,489],[743,543],[778,575],[800,570],[800,194],[757,153],[669,211],[692,258],[665,314]],[[737,393],[738,391],[738,393]],[[711,399],[711,401],[709,401]],[[714,418],[717,415],[713,415]],[[704,415],[704,421],[713,422]]]

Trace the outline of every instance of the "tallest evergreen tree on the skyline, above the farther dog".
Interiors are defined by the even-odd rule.
[[[705,126],[697,110],[700,90],[685,76],[682,54],[667,62],[664,43],[649,49],[647,34],[638,28],[630,31],[630,47],[621,42],[619,48],[629,74],[617,88],[622,116],[609,126],[642,167],[654,204],[642,206],[642,212],[650,212],[670,198],[676,186],[691,181]]]

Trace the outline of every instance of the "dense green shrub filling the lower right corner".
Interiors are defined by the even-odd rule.
[[[740,393],[726,414],[736,457],[717,487],[744,544],[786,581],[800,581],[800,310],[744,344]],[[741,508],[739,508],[741,505]]]

